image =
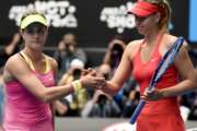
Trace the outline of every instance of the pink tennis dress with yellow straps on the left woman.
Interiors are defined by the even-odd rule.
[[[55,84],[54,73],[49,61],[46,60],[46,72],[34,70],[32,61],[21,52],[30,66],[32,73],[46,86]],[[3,121],[4,131],[53,131],[53,115],[50,105],[37,99],[18,80],[5,83],[7,102]]]

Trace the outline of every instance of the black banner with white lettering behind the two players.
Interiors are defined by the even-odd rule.
[[[190,1],[195,7],[196,1]],[[50,24],[46,46],[56,46],[68,32],[77,35],[81,47],[107,47],[114,35],[121,35],[126,41],[130,41],[141,37],[135,28],[134,15],[127,14],[127,10],[132,8],[136,0],[10,0],[0,5],[0,39],[11,38],[19,31],[22,14],[36,9],[45,13]],[[170,28],[173,35],[182,35],[195,44],[196,10],[193,8],[188,11],[188,7],[187,0],[172,1],[173,16]]]

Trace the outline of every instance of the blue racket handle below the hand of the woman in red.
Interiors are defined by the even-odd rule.
[[[131,118],[130,118],[130,123],[134,124],[139,116],[139,114],[141,112],[141,109],[143,108],[143,106],[146,105],[146,102],[143,99],[140,100],[139,105],[136,107]]]

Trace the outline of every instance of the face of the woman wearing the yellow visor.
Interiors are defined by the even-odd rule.
[[[46,41],[48,28],[39,23],[33,23],[21,32],[25,47],[40,50]]]

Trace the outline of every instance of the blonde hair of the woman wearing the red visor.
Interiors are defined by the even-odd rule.
[[[160,27],[161,28],[165,28],[167,29],[169,23],[171,21],[171,5],[169,0],[142,0],[142,1],[147,1],[153,4],[157,4],[158,7],[160,7],[161,9],[161,20],[160,20]]]

